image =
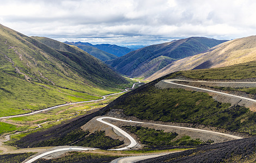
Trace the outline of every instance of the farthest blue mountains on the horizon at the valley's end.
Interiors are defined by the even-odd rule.
[[[93,45],[92,43],[88,43],[88,42],[68,42],[65,41],[64,43],[67,43],[69,45],[75,45],[81,49],[83,49],[84,51],[86,51],[88,49],[88,47],[84,47],[84,46],[91,46],[97,49],[100,49],[101,51],[113,54],[117,57],[121,57],[129,52],[132,52],[133,49],[127,48],[127,47],[121,47],[121,46],[117,46],[117,45],[110,45],[110,44],[97,44],[97,45]],[[95,51],[95,49],[94,49]],[[87,52],[87,51],[86,51]],[[89,51],[87,52],[89,53]],[[90,53],[89,53],[90,54]],[[93,54],[91,54],[93,55]],[[108,55],[108,54],[106,54]],[[113,58],[113,55],[109,55],[110,58]],[[96,57],[96,56],[94,56]],[[115,58],[117,58],[115,57]]]

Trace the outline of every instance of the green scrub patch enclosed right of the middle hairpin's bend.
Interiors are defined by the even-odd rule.
[[[182,136],[180,139],[173,141],[177,133],[164,133],[163,130],[149,129],[139,126],[124,126],[138,136],[143,145],[147,146],[198,146],[212,143],[211,141],[203,142],[200,139],[193,140],[190,136]]]

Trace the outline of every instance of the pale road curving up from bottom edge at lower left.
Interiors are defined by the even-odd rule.
[[[88,150],[95,150],[97,148],[82,148],[82,147],[69,147],[69,148],[60,148],[60,149],[55,149],[55,150],[52,150],[52,151],[48,151],[48,152],[45,152],[45,153],[42,153],[42,154],[39,154],[37,156],[35,156],[34,158],[24,162],[24,163],[31,163],[37,159],[40,159],[48,154],[52,154],[52,153],[56,153],[56,152],[62,152],[62,151],[88,151]]]

